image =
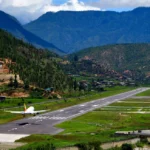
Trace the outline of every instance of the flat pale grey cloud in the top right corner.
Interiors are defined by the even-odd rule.
[[[91,3],[92,6],[98,6],[103,9],[110,8],[136,8],[141,6],[150,6],[150,0],[97,0]]]

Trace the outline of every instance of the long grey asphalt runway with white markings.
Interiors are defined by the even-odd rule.
[[[57,134],[62,129],[55,128],[54,125],[80,116],[96,108],[109,105],[133,95],[146,91],[148,88],[139,88],[133,91],[125,92],[115,96],[86,102],[61,110],[48,112],[31,118],[24,118],[5,125],[0,125],[0,133],[5,134]]]

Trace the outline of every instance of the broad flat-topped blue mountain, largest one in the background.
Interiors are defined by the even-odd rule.
[[[150,8],[128,12],[48,12],[24,27],[65,52],[115,43],[150,42]]]

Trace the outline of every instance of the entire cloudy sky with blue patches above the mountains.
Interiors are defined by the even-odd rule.
[[[60,10],[130,10],[150,6],[150,0],[0,0],[0,10],[27,23],[42,14]]]

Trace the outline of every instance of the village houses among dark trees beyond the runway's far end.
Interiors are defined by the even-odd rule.
[[[126,71],[130,73],[129,71]],[[95,75],[87,75],[85,74],[71,74],[68,73],[68,76],[74,77],[74,78],[84,78],[83,80],[80,80],[78,82],[79,90],[98,90],[103,91],[106,87],[113,87],[113,86],[135,86],[135,81],[128,76],[127,74],[123,73],[120,74],[114,70],[108,71],[104,74],[95,74]],[[87,78],[89,77],[89,79]],[[91,80],[92,78],[92,80]]]

